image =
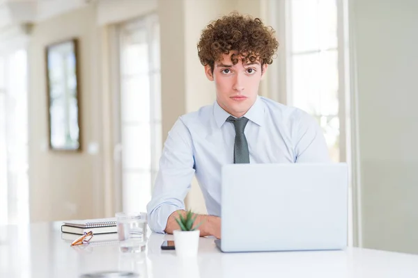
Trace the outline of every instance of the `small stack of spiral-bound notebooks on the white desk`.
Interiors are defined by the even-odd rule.
[[[88,231],[93,231],[93,234],[116,233],[116,218],[64,221],[61,226],[61,231],[63,233],[80,235]]]

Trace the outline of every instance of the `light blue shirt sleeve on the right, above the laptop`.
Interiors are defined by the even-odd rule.
[[[296,129],[296,163],[330,163],[330,154],[325,136],[318,122],[304,111],[300,111]]]

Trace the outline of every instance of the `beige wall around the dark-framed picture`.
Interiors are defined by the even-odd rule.
[[[101,190],[100,154],[86,152],[101,142],[98,36],[95,9],[88,6],[33,27],[29,42],[29,193],[31,221],[91,218]],[[48,149],[45,46],[79,38],[80,108],[83,152]],[[96,55],[97,54],[97,55]]]

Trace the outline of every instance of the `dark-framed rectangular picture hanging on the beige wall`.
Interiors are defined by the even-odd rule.
[[[46,47],[49,149],[81,151],[77,39]]]

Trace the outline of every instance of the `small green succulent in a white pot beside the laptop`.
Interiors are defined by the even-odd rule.
[[[196,256],[199,247],[200,231],[197,229],[202,223],[194,225],[197,215],[192,211],[187,211],[183,216],[178,213],[176,221],[180,226],[179,230],[174,230],[174,242],[176,244],[176,254],[178,256]]]

